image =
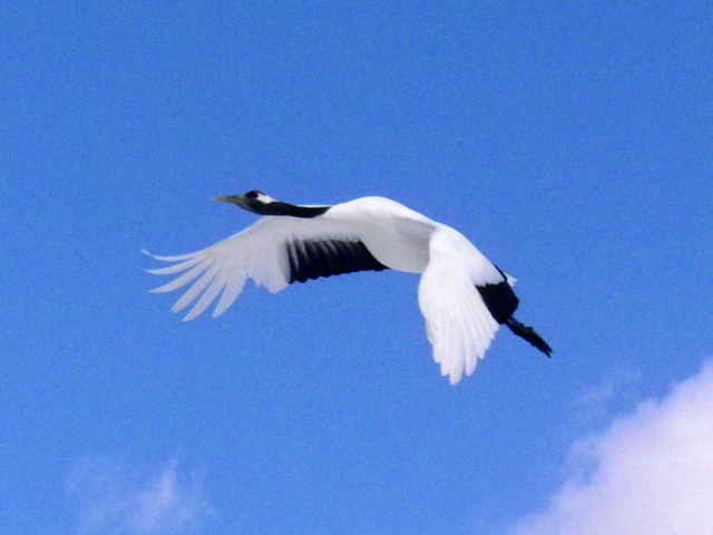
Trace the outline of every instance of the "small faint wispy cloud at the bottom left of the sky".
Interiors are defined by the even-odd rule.
[[[69,481],[80,503],[79,535],[195,533],[211,508],[199,483],[178,476],[176,460],[141,479],[107,459],[82,459]]]

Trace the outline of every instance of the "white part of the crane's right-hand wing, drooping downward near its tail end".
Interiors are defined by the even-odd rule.
[[[498,331],[476,285],[502,275],[462,234],[441,225],[431,235],[430,259],[419,283],[419,305],[433,359],[451,385],[470,376]]]

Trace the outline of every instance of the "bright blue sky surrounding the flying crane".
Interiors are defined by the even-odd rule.
[[[0,6],[0,531],[582,533],[622,429],[713,451],[713,9],[602,3]],[[553,359],[504,331],[451,387],[394,272],[182,323],[141,247],[253,188],[458,228]]]

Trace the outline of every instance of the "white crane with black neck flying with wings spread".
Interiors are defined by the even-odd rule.
[[[177,275],[152,292],[170,292],[191,284],[174,304],[184,318],[203,313],[216,299],[213,318],[241,294],[245,281],[277,293],[293,282],[356,271],[395,270],[420,273],[419,305],[433,358],[451,385],[463,371],[470,376],[495,338],[507,325],[547,354],[551,348],[515,319],[515,279],[486,259],[462,234],[384,197],[362,197],[333,206],[297,206],[254,189],[215,197],[262,215],[254,224],[207,249],[148,270]],[[149,253],[147,253],[149,254]],[[219,299],[218,299],[219,296]]]

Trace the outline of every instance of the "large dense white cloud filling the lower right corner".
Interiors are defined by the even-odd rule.
[[[579,440],[548,508],[512,535],[713,534],[713,362]]]

